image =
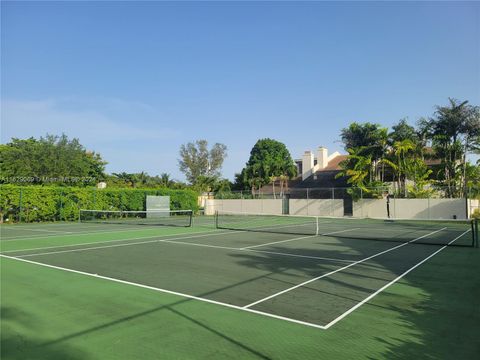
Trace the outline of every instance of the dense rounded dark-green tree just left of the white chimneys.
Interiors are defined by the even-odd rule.
[[[255,189],[268,183],[274,184],[279,179],[282,193],[284,187],[288,187],[288,179],[296,175],[297,167],[285,144],[267,138],[258,140],[253,146],[240,176],[243,177],[243,183],[250,186],[252,193]]]

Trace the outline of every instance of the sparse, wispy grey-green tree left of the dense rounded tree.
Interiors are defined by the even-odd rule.
[[[209,150],[207,140],[197,140],[180,147],[178,163],[187,180],[195,184],[200,176],[218,178],[226,156],[225,145],[216,143]]]

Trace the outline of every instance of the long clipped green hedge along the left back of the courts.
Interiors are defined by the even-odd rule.
[[[172,210],[198,210],[193,190],[2,185],[0,215],[4,221],[74,221],[79,209],[145,210],[146,195],[169,195]]]

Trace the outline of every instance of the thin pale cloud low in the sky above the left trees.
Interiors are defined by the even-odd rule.
[[[162,121],[156,120],[154,109],[148,105],[118,99],[108,99],[104,106],[99,101],[90,104],[91,108],[85,101],[72,99],[68,102],[65,99],[2,101],[1,141],[65,133],[88,146],[95,146],[118,141],[172,139],[179,135],[177,130],[164,127]],[[131,120],[126,121],[113,115],[115,112],[135,114],[135,117],[130,115]]]

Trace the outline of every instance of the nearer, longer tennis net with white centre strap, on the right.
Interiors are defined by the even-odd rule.
[[[215,223],[218,229],[323,235],[344,240],[454,246],[475,246],[477,243],[475,221],[472,220],[372,219],[217,211]]]

